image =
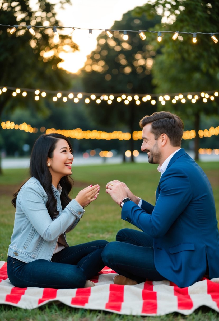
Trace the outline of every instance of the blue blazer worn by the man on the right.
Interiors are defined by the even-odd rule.
[[[156,191],[155,206],[126,202],[121,217],[153,237],[157,271],[179,287],[206,273],[219,277],[219,233],[212,188],[197,163],[180,149]]]

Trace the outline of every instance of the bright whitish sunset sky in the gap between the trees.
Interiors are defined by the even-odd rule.
[[[57,18],[66,27],[110,29],[115,20],[121,20],[122,15],[136,6],[145,4],[147,0],[72,0],[72,5],[66,5],[65,10],[57,10]],[[96,38],[100,30],[92,31],[89,38],[88,30],[75,30],[72,39],[79,45],[80,51],[62,53],[64,62],[60,67],[76,73],[82,68],[86,56],[96,48]]]

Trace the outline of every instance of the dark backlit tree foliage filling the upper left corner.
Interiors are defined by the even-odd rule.
[[[70,3],[70,0],[66,2]],[[0,0],[0,22],[6,25],[60,26],[54,7],[48,1],[37,1],[33,9],[29,1]],[[34,28],[34,36],[22,27],[18,27],[13,34],[7,31],[6,27],[0,26],[0,86],[51,90],[69,88],[69,75],[57,67],[61,61],[60,51],[65,51],[65,48],[69,51],[78,50],[69,36],[61,34],[60,40],[54,43],[51,28]],[[11,111],[18,104],[24,108],[33,104],[32,97],[28,100],[27,95],[24,100],[20,96],[17,95],[17,100],[11,100],[10,91],[0,95],[0,115],[3,108]],[[36,110],[47,113],[48,108],[43,101],[46,100],[35,101],[34,106]]]

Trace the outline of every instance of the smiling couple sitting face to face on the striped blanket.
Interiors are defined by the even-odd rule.
[[[170,112],[140,121],[141,150],[159,164],[161,178],[153,206],[118,180],[106,193],[122,208],[121,218],[138,227],[120,230],[116,241],[97,240],[68,246],[66,232],[75,228],[84,207],[96,200],[99,185],[68,196],[74,159],[68,139],[41,135],[33,146],[31,178],[14,194],[14,230],[7,272],[16,287],[81,288],[105,265],[118,273],[116,284],[146,279],[170,280],[179,287],[204,274],[219,277],[219,233],[212,189],[203,170],[180,148],[182,120]],[[145,179],[145,183],[147,179]]]

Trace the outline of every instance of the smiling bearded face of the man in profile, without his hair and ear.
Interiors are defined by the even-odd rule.
[[[143,143],[141,151],[148,155],[148,162],[150,164],[159,164],[161,160],[161,151],[158,146],[158,140],[154,139],[154,134],[151,133],[151,123],[144,126],[142,130]]]

